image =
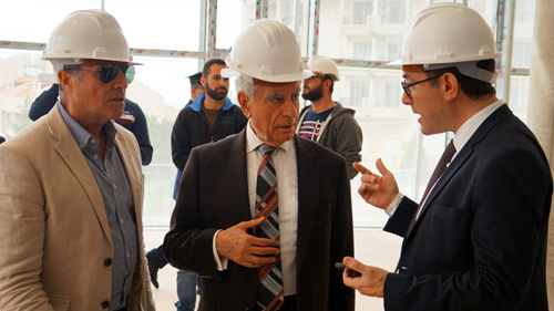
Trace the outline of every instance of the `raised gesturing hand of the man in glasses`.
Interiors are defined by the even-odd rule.
[[[377,159],[376,166],[382,176],[371,173],[359,163],[353,163],[352,166],[361,173],[361,186],[358,194],[372,206],[387,209],[399,191],[394,175],[384,167],[381,158]]]

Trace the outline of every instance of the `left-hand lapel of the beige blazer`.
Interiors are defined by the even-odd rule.
[[[96,186],[96,180],[92,174],[89,163],[83,156],[82,151],[79,148],[73,134],[69,129],[65,121],[63,120],[58,105],[48,114],[48,127],[52,136],[58,139],[54,144],[55,151],[63,158],[70,170],[81,184],[89,196],[92,208],[100,220],[102,230],[110,242],[112,242],[110,226],[107,224],[107,216],[104,210],[102,195]]]

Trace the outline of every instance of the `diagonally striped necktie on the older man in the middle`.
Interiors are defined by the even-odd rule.
[[[266,144],[258,146],[263,159],[258,168],[256,183],[256,218],[266,217],[266,220],[257,228],[256,236],[279,241],[277,177],[271,159],[274,151],[274,147]],[[276,262],[258,269],[256,309],[279,310],[284,301],[280,258],[277,258]]]

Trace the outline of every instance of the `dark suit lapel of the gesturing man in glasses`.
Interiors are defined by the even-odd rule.
[[[507,116],[512,115],[512,111],[507,107],[507,105],[502,105],[500,108],[497,108],[494,113],[492,113],[484,122],[479,126],[479,128],[475,131],[475,133],[471,136],[471,138],[468,141],[468,143],[463,146],[463,148],[460,151],[460,153],[454,157],[452,163],[447,167],[447,170],[444,170],[444,174],[442,175],[441,178],[437,182],[437,185],[434,185],[433,189],[431,193],[429,193],[429,196],[423,204],[423,207],[421,208],[421,214],[420,217],[423,216],[428,207],[431,205],[433,201],[434,197],[444,188],[444,186],[449,183],[450,179],[452,179],[452,176],[462,167],[462,165],[468,160],[468,158],[473,154],[474,147],[483,141],[484,136],[502,120],[506,118]],[[414,228],[418,226],[420,221],[416,221]],[[412,230],[413,231],[413,230]]]

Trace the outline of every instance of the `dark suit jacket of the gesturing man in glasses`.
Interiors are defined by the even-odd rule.
[[[547,310],[552,176],[531,131],[506,105],[478,128],[404,237],[386,310]],[[404,198],[386,230],[403,236]]]

